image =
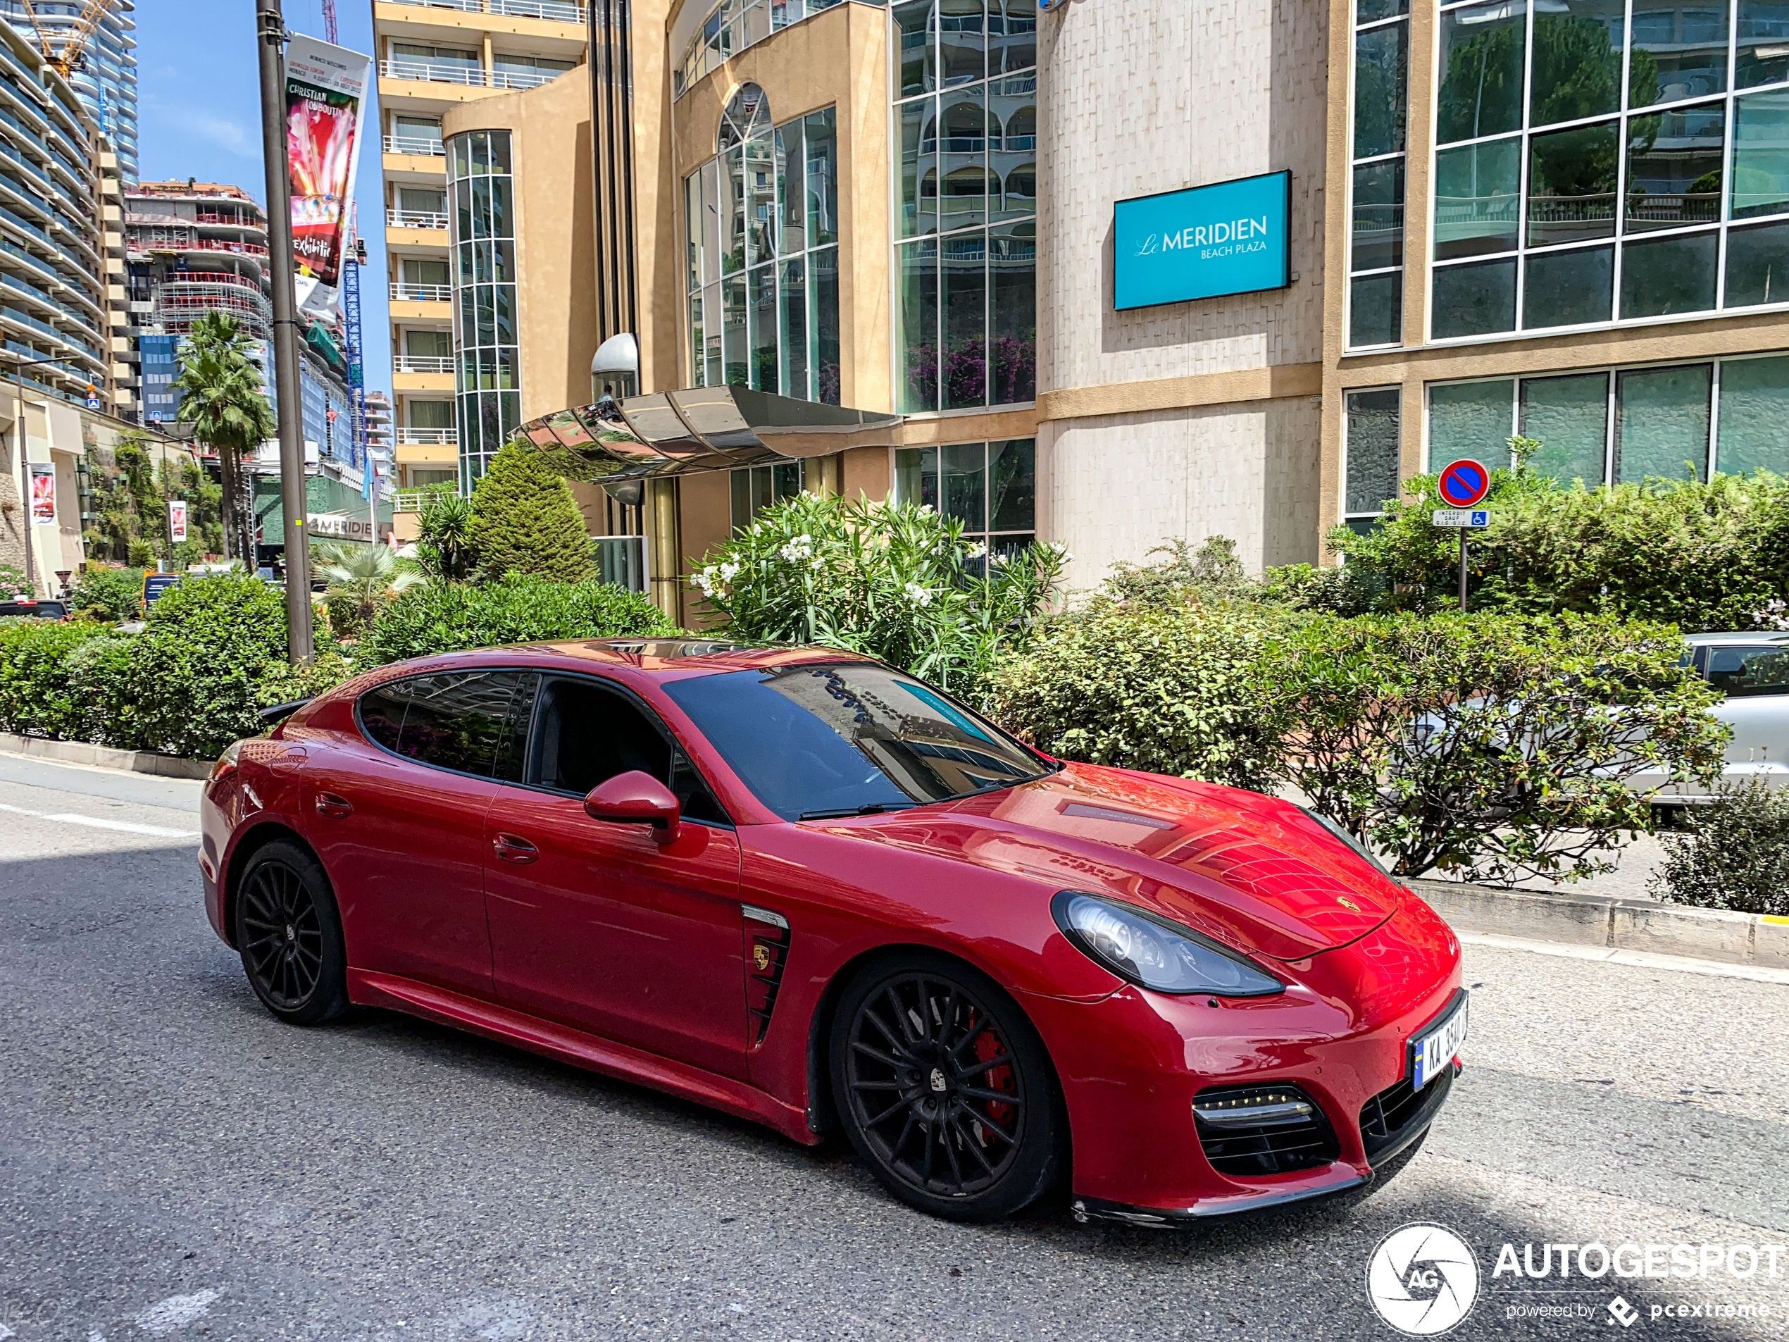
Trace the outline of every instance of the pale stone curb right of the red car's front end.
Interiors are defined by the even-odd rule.
[[[1789,918],[1612,895],[1408,884],[1458,930],[1789,970]]]

